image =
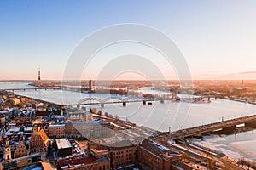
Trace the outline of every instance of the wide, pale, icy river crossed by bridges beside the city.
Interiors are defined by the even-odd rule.
[[[4,88],[32,88],[26,82],[0,82],[0,89]],[[162,93],[150,88],[143,88],[143,93]],[[110,94],[81,94],[71,91],[61,90],[28,90],[15,91],[15,94],[32,97],[34,99],[43,99],[57,104],[76,104],[84,98],[106,99]],[[125,98],[125,96],[118,96]],[[184,97],[184,95],[183,95]],[[188,96],[185,96],[188,97]],[[150,127],[155,130],[171,131],[193,127],[210,122],[219,122],[222,117],[230,119],[239,116],[253,115],[256,111],[256,105],[231,101],[227,99],[212,100],[211,103],[189,103],[160,101],[152,102],[152,105],[142,105],[141,102],[127,103],[126,107],[122,104],[108,104],[101,108],[100,105],[86,105],[88,109],[96,107],[113,116],[119,116],[121,119],[129,119],[139,126]],[[214,149],[222,150],[225,154],[233,158],[245,157],[256,160],[256,131],[228,136],[205,137],[200,144],[208,145]]]

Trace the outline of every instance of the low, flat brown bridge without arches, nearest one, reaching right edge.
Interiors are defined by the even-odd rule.
[[[214,131],[219,130],[222,130],[225,133],[233,133],[236,130],[236,126],[240,124],[245,124],[245,127],[256,128],[256,115],[242,116],[227,121],[214,122],[207,125],[201,125],[198,127],[185,128],[172,133],[165,133],[162,137],[164,139],[178,139],[198,136],[202,135],[203,133],[213,133]]]

